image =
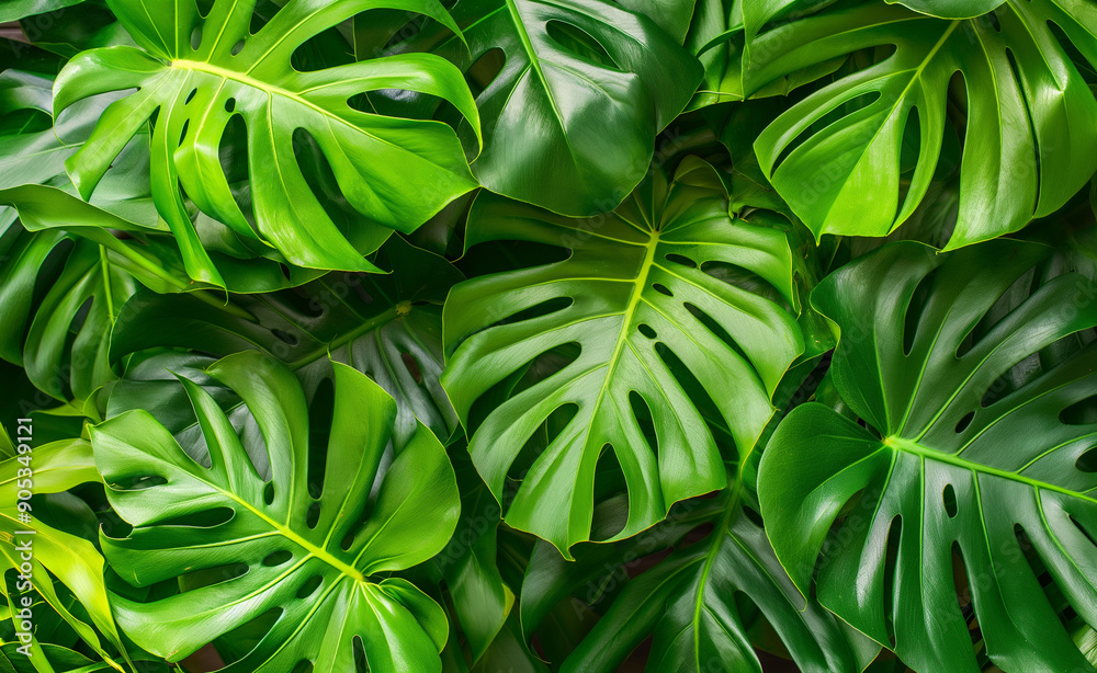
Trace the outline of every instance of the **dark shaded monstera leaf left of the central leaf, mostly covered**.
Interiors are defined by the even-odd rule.
[[[385,243],[376,262],[417,273],[337,272],[280,293],[231,295],[223,307],[192,295],[143,290],[121,310],[111,362],[160,346],[216,357],[259,350],[293,369],[308,399],[330,378],[332,362],[341,362],[396,399],[397,448],[411,440],[417,420],[445,441],[459,423],[439,383],[443,356],[438,304],[463,276],[444,259],[399,237]],[[147,393],[140,387],[134,391],[138,398]],[[174,406],[180,402],[185,401]]]

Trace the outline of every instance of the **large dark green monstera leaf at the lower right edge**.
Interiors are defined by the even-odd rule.
[[[761,460],[766,529],[802,591],[814,574],[823,605],[916,670],[979,670],[968,591],[1002,670],[1094,670],[1058,613],[1097,620],[1097,286],[1052,277],[1050,250],[893,243],[812,295],[867,426],[789,414]]]

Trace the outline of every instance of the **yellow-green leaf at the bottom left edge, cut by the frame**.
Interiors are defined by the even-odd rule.
[[[106,597],[102,555],[82,537],[37,521],[33,510],[30,512],[31,517],[25,518],[26,515],[19,509],[20,492],[30,490],[29,484],[33,484],[30,488],[41,495],[60,493],[81,483],[100,481],[91,445],[84,440],[66,440],[32,446],[21,433],[15,434],[14,438],[16,444],[11,444],[7,435],[0,437],[3,454],[11,456],[0,461],[0,497],[3,497],[3,504],[0,505],[0,569],[5,574],[14,574],[23,572],[21,568],[29,563],[34,590],[43,601],[104,659],[106,663],[102,665],[103,669],[110,666],[122,671],[122,666],[104,651],[95,630],[114,647],[123,647]],[[8,446],[3,446],[5,444]],[[23,450],[23,447],[30,450]],[[32,469],[27,469],[29,467]],[[35,501],[31,502],[33,505]],[[27,540],[31,541],[32,549],[30,561],[25,558],[26,550],[21,548]],[[81,618],[69,609],[58,596],[55,582],[72,593],[87,611],[86,617]],[[9,593],[7,589],[3,592],[8,594],[4,604],[19,611],[22,607],[21,598],[26,592]],[[11,615],[7,617],[10,618]],[[89,617],[91,624],[82,620]],[[43,657],[42,646],[37,641],[32,643],[32,652],[39,654],[37,659]],[[48,671],[48,668],[45,670]]]

